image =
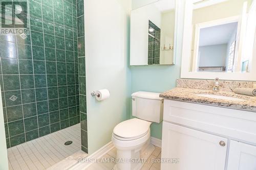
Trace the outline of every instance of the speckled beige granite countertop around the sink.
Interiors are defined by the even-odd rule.
[[[224,95],[228,97],[243,99],[245,101],[212,99],[212,98],[197,96],[195,94]],[[161,93],[160,97],[164,99],[175,100],[180,102],[197,103],[197,104],[227,107],[230,109],[239,109],[239,110],[256,112],[256,96],[236,94],[231,91],[213,91],[213,90],[176,87],[172,90],[168,90]]]

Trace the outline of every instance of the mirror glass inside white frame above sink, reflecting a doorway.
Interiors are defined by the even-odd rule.
[[[254,16],[250,0],[195,3],[190,70],[250,72]]]

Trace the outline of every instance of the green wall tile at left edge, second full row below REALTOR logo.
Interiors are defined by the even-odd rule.
[[[18,74],[18,61],[17,59],[3,58],[2,70],[4,75]]]

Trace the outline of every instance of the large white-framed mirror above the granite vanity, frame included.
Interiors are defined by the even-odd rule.
[[[181,77],[255,81],[255,18],[256,0],[187,0]]]

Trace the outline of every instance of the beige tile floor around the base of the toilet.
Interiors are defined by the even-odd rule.
[[[161,159],[161,148],[155,147],[155,151],[148,158],[148,161],[143,165],[141,170],[160,170],[160,163],[152,162],[152,159]],[[109,153],[105,154],[101,158],[112,159],[116,158],[116,149],[112,149]],[[111,170],[115,166],[115,163],[94,163],[87,168],[87,170]]]

